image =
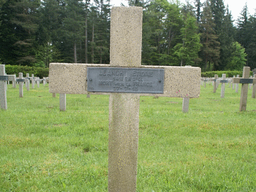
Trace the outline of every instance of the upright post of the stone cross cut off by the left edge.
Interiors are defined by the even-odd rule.
[[[5,75],[5,66],[0,65],[0,76]],[[6,100],[6,90],[7,90],[7,82],[0,81],[0,106],[2,109],[7,109],[7,100]]]

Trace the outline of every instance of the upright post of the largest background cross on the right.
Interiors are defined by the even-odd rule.
[[[243,78],[248,79],[249,77],[250,77],[250,67],[244,67]],[[247,95],[248,95],[248,83],[242,83],[239,111],[246,111]]]

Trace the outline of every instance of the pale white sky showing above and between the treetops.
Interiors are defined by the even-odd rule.
[[[111,4],[114,4],[115,6],[120,6],[120,3],[123,3],[125,6],[128,5],[127,0],[110,0]],[[190,2],[193,2],[193,0]],[[204,0],[201,0],[201,3],[203,3]],[[225,6],[227,7],[228,4],[228,8],[231,11],[231,14],[233,16],[233,20],[237,20],[238,17],[240,17],[240,13],[243,10],[243,7],[245,5],[245,3],[247,2],[247,6],[248,6],[248,11],[250,13],[250,15],[254,15],[255,14],[255,9],[256,9],[256,1],[255,0],[223,0]],[[186,0],[180,0],[180,3],[186,3]],[[193,3],[191,3],[193,4]],[[236,23],[236,21],[235,21]]]

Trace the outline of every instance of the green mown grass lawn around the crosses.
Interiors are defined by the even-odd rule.
[[[108,191],[108,95],[8,85],[0,110],[0,191]],[[30,85],[31,86],[31,85]],[[229,85],[200,97],[140,97],[137,191],[256,191],[256,100]]]

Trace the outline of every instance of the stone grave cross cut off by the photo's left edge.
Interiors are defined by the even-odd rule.
[[[5,75],[5,65],[0,65],[0,106],[2,109],[7,109],[7,81],[15,81],[15,76]]]

